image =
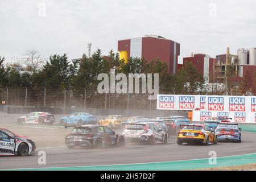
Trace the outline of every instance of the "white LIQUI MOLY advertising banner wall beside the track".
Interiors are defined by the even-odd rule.
[[[233,122],[256,122],[256,96],[158,95],[157,109],[193,111],[193,121],[229,117]]]

